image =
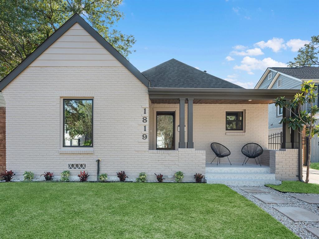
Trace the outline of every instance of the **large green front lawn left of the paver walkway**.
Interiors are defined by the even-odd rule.
[[[225,185],[0,183],[0,238],[298,238]]]

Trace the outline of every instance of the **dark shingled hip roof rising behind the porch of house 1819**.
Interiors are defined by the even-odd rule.
[[[243,87],[212,76],[183,62],[171,59],[142,72],[155,88],[224,88]]]

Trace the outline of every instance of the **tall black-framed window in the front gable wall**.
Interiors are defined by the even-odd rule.
[[[63,147],[93,147],[93,99],[63,99]]]

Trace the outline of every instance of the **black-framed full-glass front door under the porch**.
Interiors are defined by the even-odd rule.
[[[175,149],[175,112],[156,112],[156,149]]]

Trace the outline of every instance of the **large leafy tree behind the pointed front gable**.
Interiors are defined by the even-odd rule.
[[[122,0],[0,0],[0,79],[75,13],[127,57],[135,39],[113,28],[123,18],[118,11],[121,3]]]

